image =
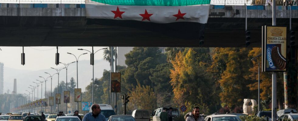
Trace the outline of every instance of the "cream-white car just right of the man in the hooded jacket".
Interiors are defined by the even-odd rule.
[[[236,115],[219,114],[206,116],[205,121],[241,121],[241,119]]]

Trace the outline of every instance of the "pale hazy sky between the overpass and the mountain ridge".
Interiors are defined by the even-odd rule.
[[[21,64],[21,53],[23,53],[23,47],[0,47],[0,62],[4,63],[5,67],[21,69],[21,70],[42,70],[50,67],[57,67],[55,65],[55,54],[57,52],[56,47],[24,47],[25,53],[25,65]],[[60,54],[60,62],[70,63],[75,60],[75,56],[78,58],[80,54],[88,51],[81,51],[78,48],[92,51],[92,47],[58,47],[58,53]],[[94,47],[94,52],[105,47]],[[67,53],[75,54],[75,56]],[[100,60],[103,58],[103,50],[98,51],[95,54],[94,60]],[[90,60],[90,54],[81,55],[79,60]],[[58,65],[61,67],[62,65]]]

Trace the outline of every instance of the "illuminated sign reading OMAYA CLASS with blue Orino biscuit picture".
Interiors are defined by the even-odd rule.
[[[286,71],[286,35],[286,27],[262,27],[262,71]]]

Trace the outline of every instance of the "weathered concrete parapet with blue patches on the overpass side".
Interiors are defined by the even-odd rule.
[[[276,6],[276,18],[289,18],[290,6]],[[298,18],[298,6],[291,6]],[[85,4],[8,4],[0,3],[0,16],[78,16],[85,17]],[[247,6],[248,18],[272,18],[271,6]],[[210,18],[245,18],[243,5],[210,5]]]

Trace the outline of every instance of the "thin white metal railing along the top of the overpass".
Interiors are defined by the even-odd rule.
[[[117,0],[109,0],[111,2]],[[135,0],[128,0],[135,1]],[[162,1],[162,0],[159,0]],[[174,0],[174,2],[177,0]],[[182,3],[189,3],[192,0],[179,0]],[[208,1],[208,0],[206,0]],[[271,0],[211,0],[212,5],[266,5]],[[276,5],[297,5],[298,0],[276,0]],[[30,3],[30,4],[85,4],[85,0],[0,0],[0,3]],[[267,5],[270,5],[268,2]],[[178,4],[178,3],[177,3]],[[272,3],[271,3],[272,4]],[[148,4],[149,5],[149,4]]]

